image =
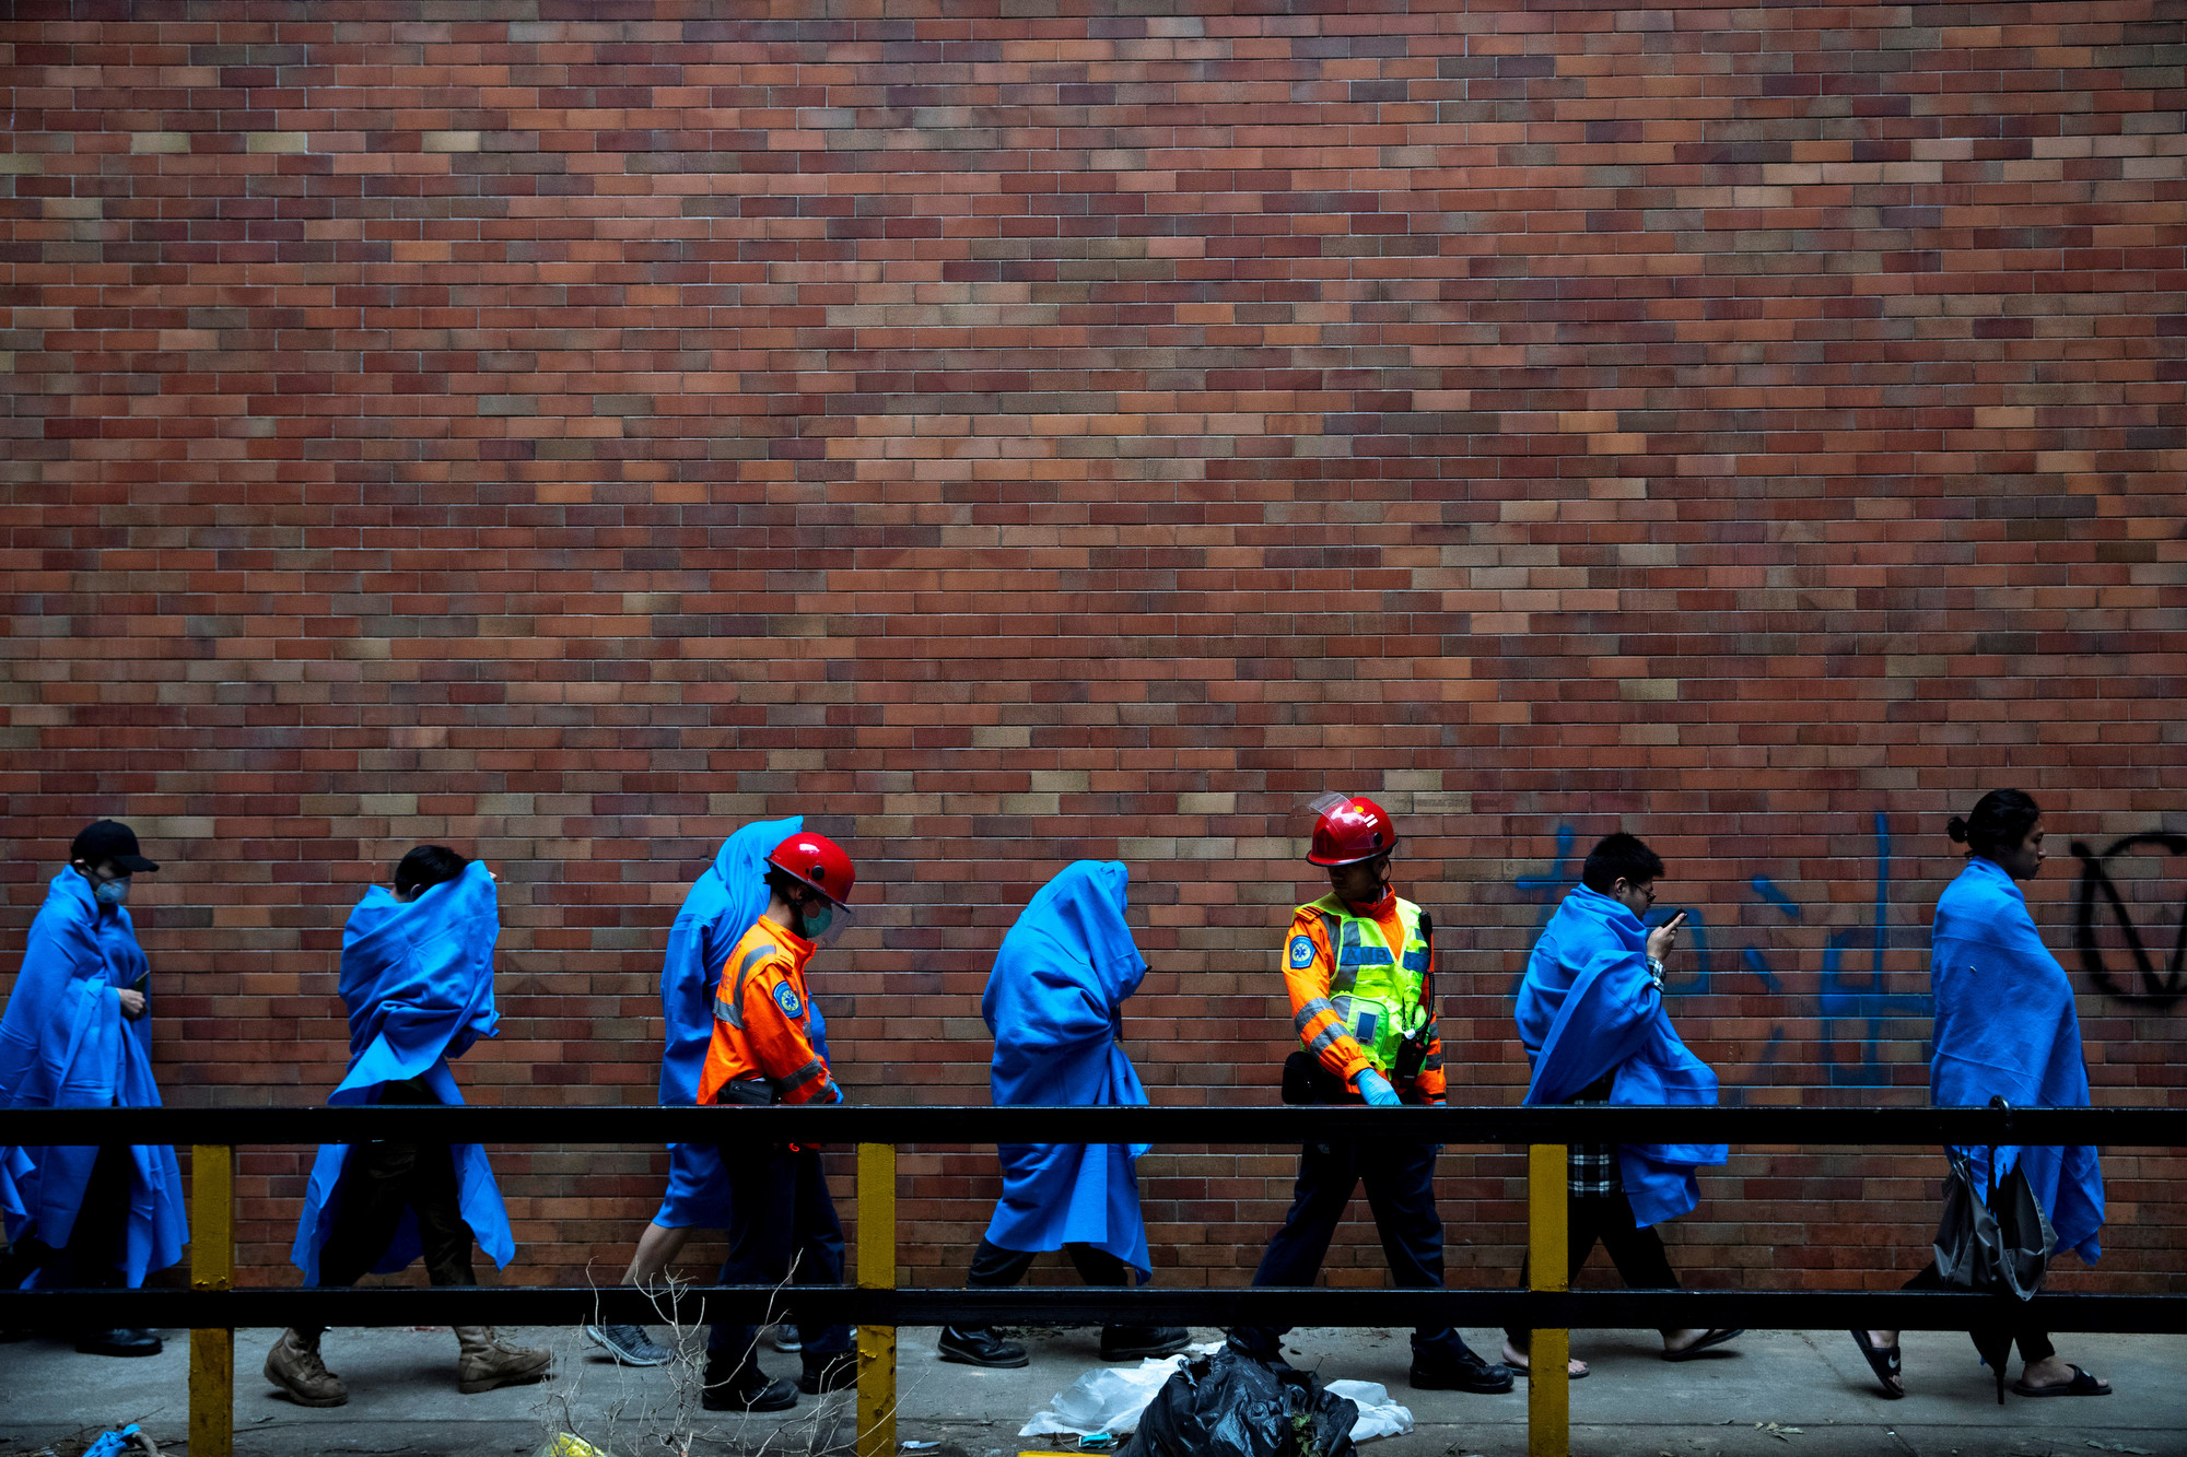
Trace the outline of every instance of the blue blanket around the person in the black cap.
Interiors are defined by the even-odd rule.
[[[151,1015],[129,1022],[120,1002],[122,989],[149,991],[149,976],[129,912],[101,908],[72,869],[55,875],[0,1015],[0,1107],[160,1107]],[[15,1184],[9,1240],[68,1245],[98,1149],[0,1151],[0,1162]],[[122,1273],[138,1286],[182,1258],[190,1229],[175,1151],[138,1144],[129,1162]]]

